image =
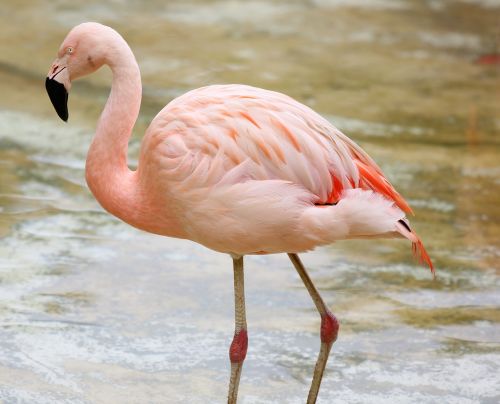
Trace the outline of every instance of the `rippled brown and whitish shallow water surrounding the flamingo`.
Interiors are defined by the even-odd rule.
[[[342,322],[323,403],[500,401],[500,119],[495,1],[2,2],[0,400],[224,402],[230,259],[136,231],[98,206],[84,161],[109,73],[43,88],[67,31],[129,41],[144,101],[209,83],[288,93],[359,142],[407,197],[436,280],[407,243],[303,256]],[[249,257],[242,403],[303,403],[319,319],[286,256]]]

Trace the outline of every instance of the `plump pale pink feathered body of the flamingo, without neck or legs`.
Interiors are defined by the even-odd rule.
[[[387,196],[373,192],[377,183],[359,166]],[[170,102],[146,132],[138,180],[156,188],[147,192],[152,211],[176,212],[185,238],[237,255],[394,236],[404,217],[395,203],[409,210],[327,120],[286,95],[243,85],[203,87]]]

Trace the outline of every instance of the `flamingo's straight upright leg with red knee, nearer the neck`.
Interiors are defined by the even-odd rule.
[[[238,386],[247,354],[248,334],[245,314],[245,284],[243,273],[243,257],[233,257],[234,271],[234,337],[229,348],[231,361],[231,379],[229,380],[228,404],[236,404]]]

